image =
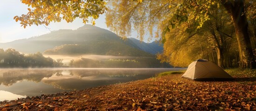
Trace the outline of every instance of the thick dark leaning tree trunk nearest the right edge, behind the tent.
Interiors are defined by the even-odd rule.
[[[240,68],[256,68],[256,61],[252,52],[248,33],[248,21],[246,18],[244,0],[235,0],[234,6],[230,0],[221,2],[231,15],[235,27],[235,35],[238,42]]]

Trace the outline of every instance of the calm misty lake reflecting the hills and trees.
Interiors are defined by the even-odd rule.
[[[184,68],[1,68],[0,101],[155,77]]]

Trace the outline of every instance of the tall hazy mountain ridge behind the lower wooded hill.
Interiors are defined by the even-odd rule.
[[[108,42],[109,44],[105,44],[106,46],[102,47],[105,48],[112,45],[113,48],[123,47],[123,49],[120,49],[119,51],[125,51],[125,49],[130,49],[130,51],[134,50],[131,52],[136,53],[137,51],[139,54],[142,55],[147,55],[146,53],[154,54],[152,53],[152,51],[150,52],[148,50],[145,50],[142,45],[139,45],[134,41],[135,40],[131,39],[123,41],[120,37],[118,37],[118,35],[111,31],[93,25],[84,25],[76,30],[62,29],[58,31],[51,31],[50,33],[43,34],[38,37],[30,37],[27,39],[19,39],[8,43],[0,43],[0,48],[13,48],[22,53],[36,53],[44,52],[49,49],[54,49],[65,44],[91,44],[92,47],[96,47],[93,45],[100,42]],[[116,44],[116,46],[114,44]],[[87,47],[89,46],[87,45]]]

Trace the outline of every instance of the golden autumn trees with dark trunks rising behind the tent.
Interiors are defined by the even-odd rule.
[[[219,66],[227,67],[223,61],[233,60],[228,60],[225,53],[237,43],[239,57],[234,58],[239,60],[234,63],[238,62],[241,68],[256,68],[246,14],[255,18],[253,4],[253,0],[111,0],[106,24],[121,37],[129,36],[133,30],[141,40],[145,32],[160,37],[164,50],[159,59],[174,66],[187,66],[189,62],[182,62],[186,56],[190,61],[217,58]]]

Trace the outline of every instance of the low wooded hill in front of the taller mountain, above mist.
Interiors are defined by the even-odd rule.
[[[110,55],[110,56],[152,56],[142,50],[117,41],[94,41],[84,44],[65,44],[44,51],[47,55]]]

